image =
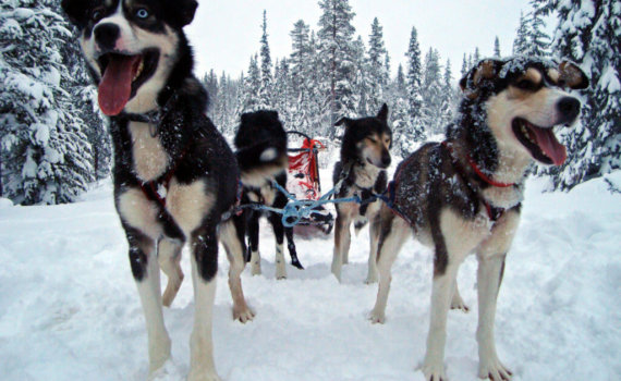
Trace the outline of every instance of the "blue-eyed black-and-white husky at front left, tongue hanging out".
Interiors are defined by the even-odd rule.
[[[145,312],[149,376],[170,358],[162,304],[169,306],[181,285],[179,262],[187,243],[195,295],[188,379],[218,380],[211,341],[218,239],[231,262],[233,316],[245,322],[254,312],[240,279],[243,216],[221,223],[239,201],[241,174],[205,116],[207,93],[192,73],[182,32],[196,7],[195,0],[62,0],[81,32],[99,107],[110,116],[114,201]],[[163,300],[160,268],[168,275]]]

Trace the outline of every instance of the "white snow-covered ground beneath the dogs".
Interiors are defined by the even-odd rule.
[[[325,186],[329,173],[324,174]],[[621,185],[621,172],[608,176]],[[621,195],[595,180],[569,194],[529,181],[521,229],[498,306],[497,343],[514,380],[621,379]],[[0,202],[0,380],[143,380],[143,312],[109,183],[73,205]],[[353,239],[343,283],[330,274],[331,237],[297,238],[306,270],[275,280],[273,239],[261,232],[264,275],[243,274],[254,321],[232,320],[228,262],[220,258],[216,364],[224,380],[422,380],[429,319],[430,251],[406,245],[393,268],[387,322],[367,321],[377,285],[365,285],[366,231]],[[183,268],[188,271],[188,255]],[[162,276],[166,281],[165,276]],[[459,283],[472,307],[449,316],[452,381],[477,372],[476,260]],[[194,304],[190,279],[165,311],[173,360],[188,370]]]

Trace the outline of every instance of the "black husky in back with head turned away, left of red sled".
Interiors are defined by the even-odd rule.
[[[279,192],[272,182],[282,188],[287,186],[287,133],[278,119],[276,111],[257,111],[242,115],[242,123],[235,135],[235,152],[242,169],[242,183],[244,184],[242,204],[258,202],[276,209],[282,209],[288,202],[287,196]],[[259,160],[257,160],[259,157]],[[266,216],[276,236],[276,278],[287,278],[284,255],[282,253],[283,237],[287,243],[292,265],[302,268],[295,244],[293,243],[293,228],[282,225],[282,217],[272,211],[249,211],[247,234],[249,237],[252,274],[258,275],[260,271],[259,218]]]

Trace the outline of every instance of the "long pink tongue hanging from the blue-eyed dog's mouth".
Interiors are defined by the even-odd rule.
[[[118,115],[130,100],[134,64],[141,56],[112,56],[99,83],[99,108],[106,115]]]

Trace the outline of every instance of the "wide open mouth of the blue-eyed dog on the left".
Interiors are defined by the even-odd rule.
[[[147,49],[139,54],[110,52],[98,58],[101,69],[99,82],[99,108],[106,115],[118,115],[149,79],[157,67],[158,49]]]

